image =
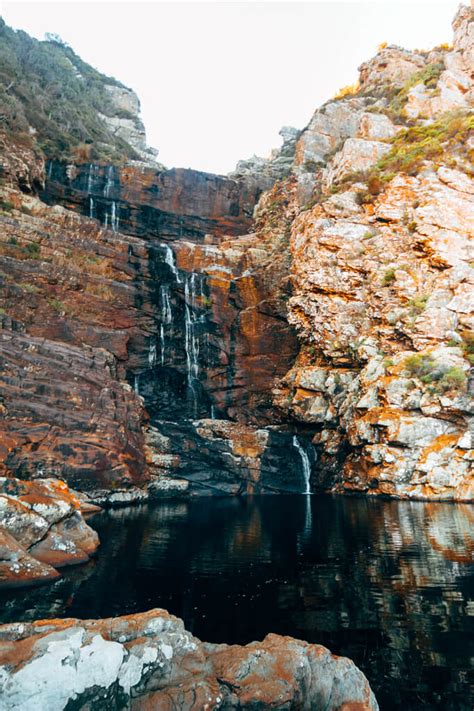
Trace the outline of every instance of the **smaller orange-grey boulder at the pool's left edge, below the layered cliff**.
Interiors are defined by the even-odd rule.
[[[1,477],[0,588],[55,580],[57,568],[88,561],[99,537],[81,509],[81,501],[58,479]]]

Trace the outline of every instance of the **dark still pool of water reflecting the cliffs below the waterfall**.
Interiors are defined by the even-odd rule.
[[[90,522],[97,559],[1,594],[3,621],[164,607],[211,642],[320,642],[363,669],[382,711],[474,707],[472,506],[267,496]]]

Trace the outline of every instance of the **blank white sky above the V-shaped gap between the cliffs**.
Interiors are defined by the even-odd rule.
[[[167,166],[226,173],[267,155],[283,125],[353,83],[382,41],[430,48],[452,38],[443,2],[0,1],[7,24],[56,32],[132,87],[148,142]]]

